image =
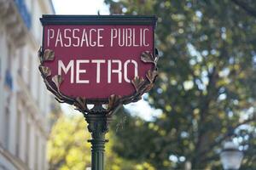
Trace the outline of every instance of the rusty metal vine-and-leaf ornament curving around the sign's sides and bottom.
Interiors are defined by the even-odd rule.
[[[146,79],[143,77],[134,77],[131,81],[133,87],[136,92],[129,96],[121,97],[119,95],[111,95],[108,100],[89,100],[85,97],[72,98],[60,92],[61,83],[64,82],[63,78],[60,75],[52,75],[49,67],[44,66],[44,62],[49,62],[55,59],[54,51],[50,49],[39,48],[38,57],[40,59],[40,65],[38,67],[41,72],[41,76],[44,78],[44,83],[46,88],[52,93],[55,94],[55,99],[60,103],[67,103],[70,105],[74,105],[76,110],[84,113],[84,116],[88,114],[95,114],[97,109],[106,113],[107,115],[111,115],[113,111],[119,105],[129,104],[131,102],[136,102],[139,99],[142,99],[142,95],[147,93],[151,88],[154,87],[154,81],[157,77],[157,61],[158,61],[158,52],[155,50],[155,54],[151,54],[148,51],[145,51],[141,54],[141,60],[144,63],[153,63],[154,67],[151,70],[147,71],[145,75]],[[50,78],[52,77],[52,78]],[[87,107],[88,104],[93,104],[94,107],[89,109]],[[102,104],[108,104],[108,108],[103,108]]]

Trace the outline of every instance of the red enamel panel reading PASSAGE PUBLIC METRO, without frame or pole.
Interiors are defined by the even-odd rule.
[[[147,71],[154,68],[141,59],[145,51],[154,54],[154,24],[50,21],[42,21],[43,49],[54,51],[54,59],[44,66],[51,71],[50,77],[62,77],[61,94],[86,99],[132,95],[134,77],[146,79]]]

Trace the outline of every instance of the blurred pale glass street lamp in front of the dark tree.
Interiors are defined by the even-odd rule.
[[[238,150],[238,145],[232,141],[224,143],[224,149],[220,153],[220,160],[224,167],[224,170],[238,170],[241,166],[241,160],[243,153]]]

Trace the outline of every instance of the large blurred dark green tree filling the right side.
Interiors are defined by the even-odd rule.
[[[116,133],[118,155],[161,170],[222,169],[221,144],[235,133],[245,151],[241,169],[256,169],[256,2],[105,3],[111,14],[158,17],[160,73],[148,102],[163,113],[152,122],[127,120]]]

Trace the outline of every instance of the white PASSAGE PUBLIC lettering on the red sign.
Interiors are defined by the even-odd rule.
[[[103,40],[108,42],[108,37],[104,37],[104,28],[65,28],[48,29],[46,33],[46,44],[55,44],[55,47],[104,47]],[[148,47],[148,28],[111,28],[109,46],[117,47]],[[106,35],[106,34],[105,34]]]

